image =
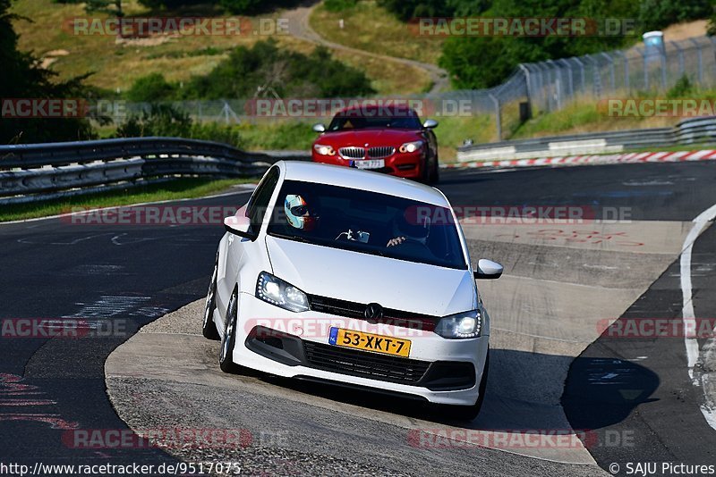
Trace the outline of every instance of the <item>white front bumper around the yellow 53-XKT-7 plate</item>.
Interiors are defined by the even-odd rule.
[[[329,329],[334,326],[409,339],[410,356],[407,359],[384,356],[330,345]],[[272,333],[266,331],[275,331],[272,344],[261,342],[260,346],[257,345],[257,329],[264,331],[260,333],[263,337],[271,336]],[[286,340],[280,341],[280,347],[273,347],[278,345],[277,337]],[[332,381],[349,387],[371,388],[422,398],[432,403],[470,406],[476,402],[479,395],[478,388],[487,356],[488,340],[488,336],[477,339],[444,339],[432,331],[407,329],[386,323],[371,324],[363,320],[313,311],[296,314],[269,305],[251,294],[240,293],[234,362],[287,378]],[[271,352],[271,347],[275,352]],[[323,353],[323,364],[317,364],[315,359],[311,361],[306,357],[307,352],[311,354],[316,349]],[[370,369],[366,369],[366,363],[371,364]],[[380,370],[386,369],[381,367],[383,363],[396,370],[405,368],[414,371],[415,364],[427,364],[428,369],[420,380],[406,383],[380,374]],[[463,380],[460,381],[462,385],[450,386],[450,383],[455,384],[456,381],[450,381],[449,375],[446,381],[446,375],[441,375],[446,372],[455,374],[458,368],[461,372],[467,368],[473,370],[473,380],[469,385],[465,385]],[[355,372],[356,369],[361,371]],[[378,374],[375,374],[375,370],[379,370]]]

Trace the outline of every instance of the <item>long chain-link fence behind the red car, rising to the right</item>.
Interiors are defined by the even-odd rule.
[[[489,66],[486,66],[489,67]],[[504,130],[536,113],[558,111],[575,101],[626,98],[665,92],[683,77],[698,88],[716,86],[716,38],[667,41],[663,47],[634,46],[626,50],[585,54],[572,58],[523,63],[495,88],[457,90],[432,95],[390,98],[286,99],[278,97],[216,101],[175,102],[175,108],[194,121],[225,124],[261,121],[328,121],[351,101],[408,100],[418,105],[423,117],[450,115],[493,117],[492,140],[504,138]],[[292,111],[291,102],[303,103]],[[324,104],[321,109],[320,103]],[[149,105],[127,106],[137,113]],[[422,110],[422,111],[421,111]],[[321,113],[322,112],[322,113]]]

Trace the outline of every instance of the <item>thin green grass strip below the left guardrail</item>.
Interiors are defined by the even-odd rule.
[[[226,180],[186,178],[161,184],[99,192],[87,196],[67,197],[30,204],[3,205],[0,207],[0,222],[21,221],[67,213],[72,207],[99,208],[205,197],[225,192],[237,184],[246,184],[257,180],[258,178]],[[236,204],[236,208],[241,205],[243,204]]]

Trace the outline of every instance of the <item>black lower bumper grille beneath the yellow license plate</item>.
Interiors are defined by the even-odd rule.
[[[421,381],[430,366],[430,363],[424,361],[382,356],[312,341],[303,341],[303,349],[306,359],[314,368],[401,384]]]

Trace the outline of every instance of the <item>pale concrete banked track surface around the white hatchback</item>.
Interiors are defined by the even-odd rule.
[[[107,393],[140,434],[168,427],[250,431],[251,445],[242,449],[166,449],[186,462],[239,462],[242,474],[609,475],[579,439],[506,446],[499,436],[572,432],[560,405],[569,364],[678,259],[692,227],[465,223],[473,262],[505,265],[500,280],[478,284],[492,351],[485,403],[473,423],[441,421],[413,402],[372,393],[224,374],[217,342],[200,335],[203,299],[118,347],[105,365]],[[411,436],[430,430],[456,445],[416,445]],[[465,435],[479,435],[482,445],[461,445]]]

